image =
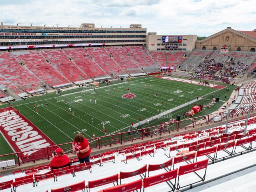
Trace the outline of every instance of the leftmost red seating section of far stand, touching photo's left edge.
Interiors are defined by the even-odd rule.
[[[40,84],[43,82],[34,76],[34,74],[30,73],[24,66],[21,66],[14,56],[5,52],[0,54],[0,58],[0,74],[2,78],[12,82],[4,83],[5,81],[3,80],[7,88],[10,88],[16,94],[39,89]]]

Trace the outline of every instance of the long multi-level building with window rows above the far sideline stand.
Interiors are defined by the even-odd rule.
[[[0,50],[146,44],[146,28],[0,26]]]

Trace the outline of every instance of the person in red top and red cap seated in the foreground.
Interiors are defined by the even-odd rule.
[[[64,155],[64,151],[61,148],[57,148],[55,153],[52,153],[52,160],[50,162],[50,168],[58,168],[69,164],[68,156]]]

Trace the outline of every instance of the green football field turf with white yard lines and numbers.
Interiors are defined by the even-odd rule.
[[[146,84],[146,86],[145,86]],[[221,83],[220,83],[221,84]],[[151,87],[150,87],[151,85]],[[221,84],[225,85],[226,84]],[[127,93],[126,89],[136,97],[122,98]],[[20,110],[28,120],[35,124],[42,132],[44,132],[56,144],[72,142],[75,134],[82,133],[86,138],[103,136],[104,125],[107,134],[114,134],[128,130],[132,122],[139,122],[150,119],[152,116],[169,110],[176,106],[180,106],[188,101],[196,99],[196,96],[205,97],[197,102],[191,103],[189,106],[180,108],[172,112],[172,118],[176,114],[183,115],[183,112],[194,104],[207,104],[212,100],[212,94],[220,96],[220,100],[226,101],[236,86],[230,86],[230,92],[226,89],[218,90],[206,86],[198,86],[184,82],[164,80],[155,77],[133,78],[131,81],[112,84],[111,86],[102,86],[94,90],[72,90],[63,92],[61,96],[51,93],[24,100],[14,102],[14,108]],[[115,89],[115,90],[114,90]],[[72,92],[78,93],[72,93]],[[97,94],[98,92],[98,94]],[[108,94],[109,92],[109,94]],[[155,93],[158,97],[155,97]],[[64,96],[64,94],[68,94]],[[224,95],[227,94],[225,99]],[[92,102],[90,102],[92,99]],[[67,104],[65,104],[65,100]],[[94,100],[97,100],[96,104]],[[163,101],[163,105],[161,105]],[[202,116],[209,114],[218,109],[224,102],[218,102],[208,110],[203,110],[198,114]],[[46,107],[46,102],[48,107]],[[38,115],[36,115],[33,105],[36,104]],[[9,107],[8,104],[1,105],[0,108]],[[68,112],[68,108],[74,111],[74,116]],[[92,122],[91,119],[94,119]],[[142,125],[142,127],[153,126],[161,122],[168,121],[169,117],[160,118],[160,120],[150,121],[150,125]],[[133,128],[131,129],[133,130]],[[0,154],[12,152],[7,146],[2,135],[0,135],[1,150]]]

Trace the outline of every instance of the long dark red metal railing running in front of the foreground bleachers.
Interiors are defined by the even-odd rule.
[[[256,105],[252,105],[251,112],[256,110]],[[161,136],[161,135],[168,135],[172,132],[179,132],[187,129],[192,128],[200,128],[200,126],[209,124],[214,122],[213,118],[216,116],[221,117],[220,121],[226,120],[227,118],[227,112],[220,112],[220,113],[214,113],[206,116],[199,116],[195,118],[189,118],[181,121],[176,122],[168,122],[165,124],[160,124],[157,126],[151,126],[147,128],[138,128],[133,131],[128,132],[119,132],[117,134],[112,134],[108,136],[102,136],[97,138],[90,138],[88,139],[88,142],[90,144],[90,148],[102,148],[106,146],[113,146],[116,144],[124,144],[125,142],[133,142],[134,140],[144,140],[145,138],[153,138],[155,136]],[[234,111],[230,113],[229,118],[242,116],[244,114],[247,114],[247,110],[242,108],[240,114],[236,114]],[[244,117],[246,118],[246,117]],[[243,118],[242,118],[243,119]],[[230,121],[232,122],[232,120]],[[24,157],[22,154],[26,154],[27,152],[32,152],[35,150],[28,150],[24,152],[15,152],[10,154],[4,154],[0,155],[0,159],[14,159],[15,164],[19,165],[28,163],[28,162],[36,162],[37,160],[43,160],[48,159],[50,160],[50,157],[52,156],[52,151],[54,151],[57,147],[61,147],[66,154],[72,154],[72,142],[64,143],[64,144],[58,144],[54,146],[49,146],[46,148],[40,148],[37,150],[42,150],[40,154],[30,155],[29,158]]]

